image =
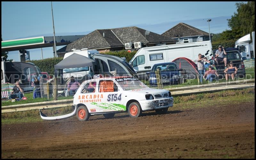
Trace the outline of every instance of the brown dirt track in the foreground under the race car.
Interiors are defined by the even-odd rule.
[[[2,158],[255,158],[255,105],[2,125]]]

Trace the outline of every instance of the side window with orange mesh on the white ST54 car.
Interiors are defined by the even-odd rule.
[[[101,80],[99,82],[99,92],[117,92],[117,85],[111,80]]]

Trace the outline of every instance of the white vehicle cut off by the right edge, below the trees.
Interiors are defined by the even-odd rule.
[[[252,32],[252,43],[251,41],[251,35],[247,34],[244,37],[240,38],[235,42],[235,48],[239,48],[239,51],[242,55],[242,57],[246,57],[246,59],[254,58],[255,56],[255,49],[254,49],[254,43],[255,43],[255,32]],[[250,44],[249,44],[250,43]]]

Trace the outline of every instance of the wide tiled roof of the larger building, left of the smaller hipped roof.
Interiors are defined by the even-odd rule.
[[[84,37],[67,45],[66,52],[72,49],[96,49],[99,52],[108,52],[113,50],[125,49],[125,43],[141,42],[141,47],[156,46],[161,44],[175,44],[177,41],[160,34],[149,32],[146,30],[132,26],[113,29],[97,29]],[[58,53],[58,51],[57,51]]]

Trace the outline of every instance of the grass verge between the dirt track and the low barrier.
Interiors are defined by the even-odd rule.
[[[214,106],[216,100],[218,105],[227,105],[232,103],[254,102],[255,89],[240,89],[240,90],[224,90],[213,93],[200,93],[187,96],[174,97],[174,105],[172,109],[189,109],[205,106]],[[71,113],[71,107],[52,108],[44,110],[48,116],[58,116]],[[2,113],[1,117],[3,124],[26,123],[44,121],[40,117],[39,110],[30,110],[23,112]]]

